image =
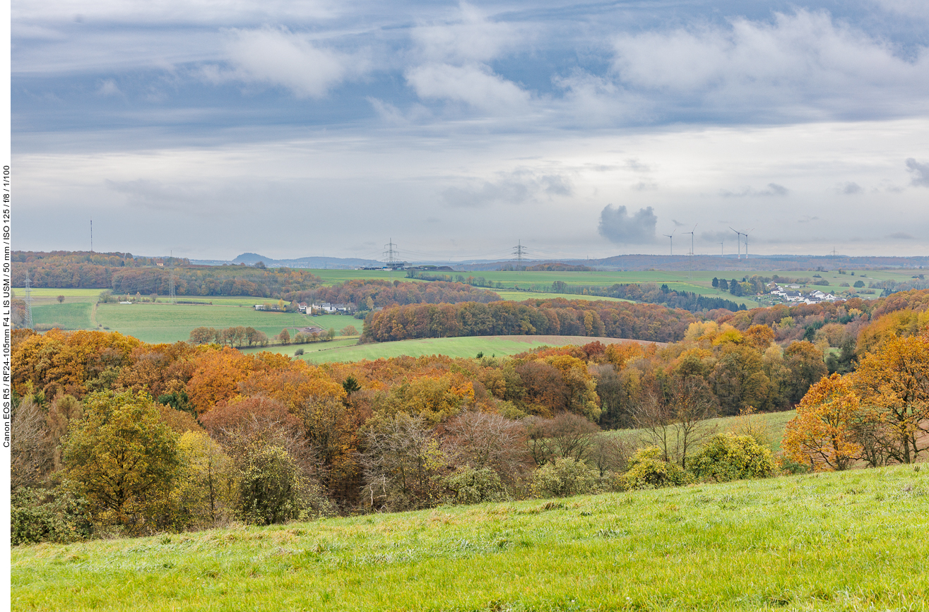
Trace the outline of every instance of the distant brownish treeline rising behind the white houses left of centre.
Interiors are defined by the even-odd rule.
[[[500,295],[480,291],[462,282],[401,282],[399,280],[347,280],[332,287],[320,287],[287,295],[298,302],[354,304],[360,310],[408,304],[457,304],[459,302],[496,302]]]

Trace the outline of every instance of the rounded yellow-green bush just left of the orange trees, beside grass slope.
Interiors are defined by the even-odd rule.
[[[765,478],[777,465],[771,450],[752,436],[719,434],[713,436],[690,461],[694,475],[717,482],[742,478]]]

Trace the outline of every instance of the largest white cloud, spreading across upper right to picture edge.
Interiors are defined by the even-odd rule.
[[[666,110],[811,117],[916,111],[929,94],[929,52],[907,58],[829,13],[775,13],[726,26],[622,34],[612,70],[624,90]]]

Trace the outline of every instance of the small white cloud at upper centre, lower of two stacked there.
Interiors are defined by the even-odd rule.
[[[528,92],[486,66],[427,64],[407,71],[406,80],[420,98],[464,102],[482,111],[517,111],[530,100]]]

